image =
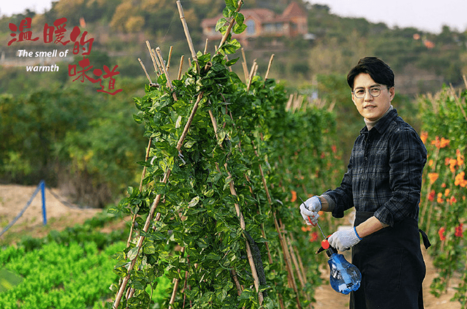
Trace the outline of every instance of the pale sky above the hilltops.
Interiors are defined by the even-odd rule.
[[[248,1],[248,0],[246,0]],[[37,13],[50,9],[51,0],[2,0],[0,14],[11,16],[26,8]],[[342,17],[363,17],[370,22],[384,22],[389,27],[415,27],[440,33],[443,25],[451,30],[467,29],[467,0],[317,0],[326,4],[332,14]],[[175,3],[175,0],[174,0]]]

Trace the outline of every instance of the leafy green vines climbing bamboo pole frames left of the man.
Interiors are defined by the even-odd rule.
[[[150,308],[161,276],[173,282],[163,308],[303,308],[313,300],[318,264],[310,278],[297,248],[308,238],[293,231],[300,231],[293,177],[290,170],[277,174],[284,168],[278,153],[297,147],[300,135],[309,141],[304,136],[313,127],[315,140],[303,155],[319,156],[326,147],[318,133],[328,128],[329,116],[322,110],[287,114],[286,93],[276,81],[252,73],[242,82],[229,69],[239,59],[228,55],[241,47],[230,31],[245,29],[240,7],[241,1],[226,0],[216,26],[220,47],[212,54],[191,50],[190,67],[178,79],[170,79],[161,51],[152,52],[161,68],[157,83],[134,99],[134,119],[149,139],[143,177],[110,210],[130,215],[132,230],[127,248],[113,255],[121,279],[112,286],[109,308]],[[293,142],[285,133],[291,128]],[[303,172],[316,176],[313,169]]]

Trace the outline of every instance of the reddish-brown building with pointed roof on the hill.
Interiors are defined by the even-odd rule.
[[[247,45],[248,39],[257,37],[298,37],[312,38],[308,33],[308,19],[306,11],[295,1],[291,2],[282,14],[277,15],[265,8],[244,9],[240,13],[245,17],[244,24],[247,25],[241,34],[234,34],[236,38]],[[223,16],[202,20],[201,27],[203,35],[209,40],[222,38],[219,31],[215,31],[216,23]]]

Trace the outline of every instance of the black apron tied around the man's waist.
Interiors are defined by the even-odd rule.
[[[373,216],[373,212],[357,211],[354,226]],[[352,264],[360,269],[362,282],[350,293],[350,309],[423,309],[426,268],[419,232],[425,247],[429,246],[417,220],[406,218],[352,247]]]

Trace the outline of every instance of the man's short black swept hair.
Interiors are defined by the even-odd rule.
[[[358,61],[349,74],[347,74],[347,83],[353,89],[355,77],[360,73],[367,73],[373,80],[381,85],[394,87],[394,72],[383,61],[376,57],[366,57]]]

